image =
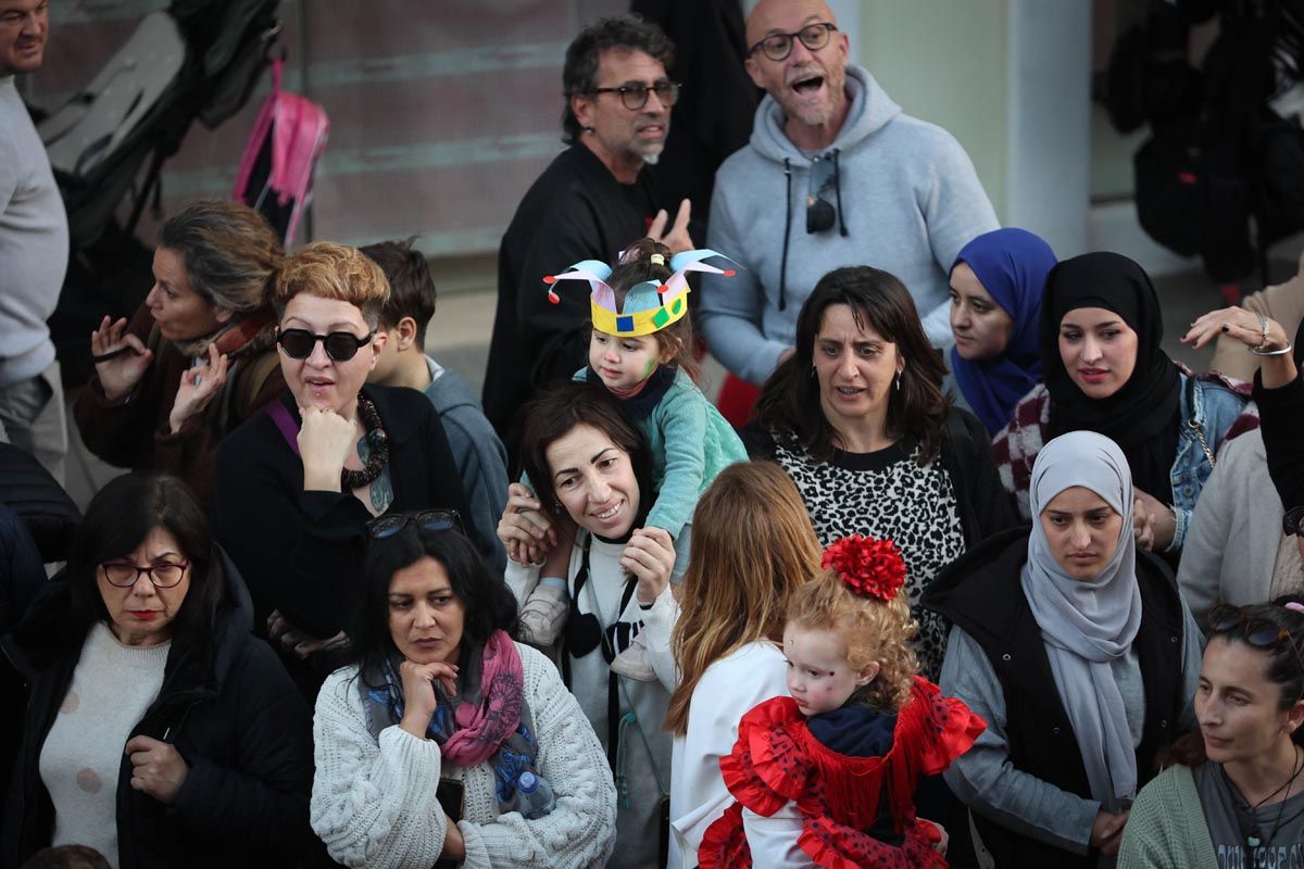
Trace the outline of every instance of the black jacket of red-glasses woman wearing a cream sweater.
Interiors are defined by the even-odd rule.
[[[172,805],[117,780],[119,860],[149,866],[296,865],[318,860],[308,823],[313,783],[312,714],[275,653],[250,633],[239,575],[224,563],[224,595],[207,637],[172,638],[158,700],[132,728],[176,745],[190,767]],[[0,865],[20,865],[50,844],[53,804],[38,762],[87,625],[69,618],[70,593],[52,581],[0,641],[27,685],[27,711],[5,805]]]

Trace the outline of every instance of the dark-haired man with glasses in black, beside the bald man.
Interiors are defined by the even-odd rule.
[[[539,387],[569,380],[587,360],[588,289],[558,284],[559,301],[552,304],[544,278],[584,259],[614,262],[644,236],[672,253],[692,248],[689,201],[666,228],[643,172],[670,132],[679,95],[666,74],[673,52],[665,34],[636,16],[602,18],[566,50],[562,141],[570,147],[526,193],[498,249],[484,409],[512,461],[520,406]]]

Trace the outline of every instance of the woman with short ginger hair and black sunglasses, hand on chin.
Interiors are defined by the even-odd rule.
[[[379,266],[353,248],[317,242],[287,258],[273,301],[288,392],[218,452],[218,539],[249,584],[258,625],[300,658],[343,640],[368,521],[432,507],[467,515],[429,400],[365,384],[387,297]],[[476,545],[493,558],[497,541]],[[314,661],[312,672],[292,667],[309,689],[330,670]]]

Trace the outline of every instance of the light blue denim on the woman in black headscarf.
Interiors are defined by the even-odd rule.
[[[1181,429],[1178,431],[1178,455],[1170,473],[1178,529],[1164,551],[1181,551],[1196,499],[1214,469],[1209,453],[1218,455],[1227,431],[1245,412],[1245,403],[1247,397],[1222,378],[1181,373]],[[1205,438],[1204,446],[1200,443],[1201,434]],[[1209,453],[1205,452],[1205,446]]]

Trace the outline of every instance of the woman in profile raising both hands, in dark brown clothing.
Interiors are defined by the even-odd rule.
[[[283,259],[241,203],[201,199],[170,218],[141,309],[91,334],[94,374],[73,405],[86,447],[176,474],[207,503],[218,443],[286,386],[267,298]]]

